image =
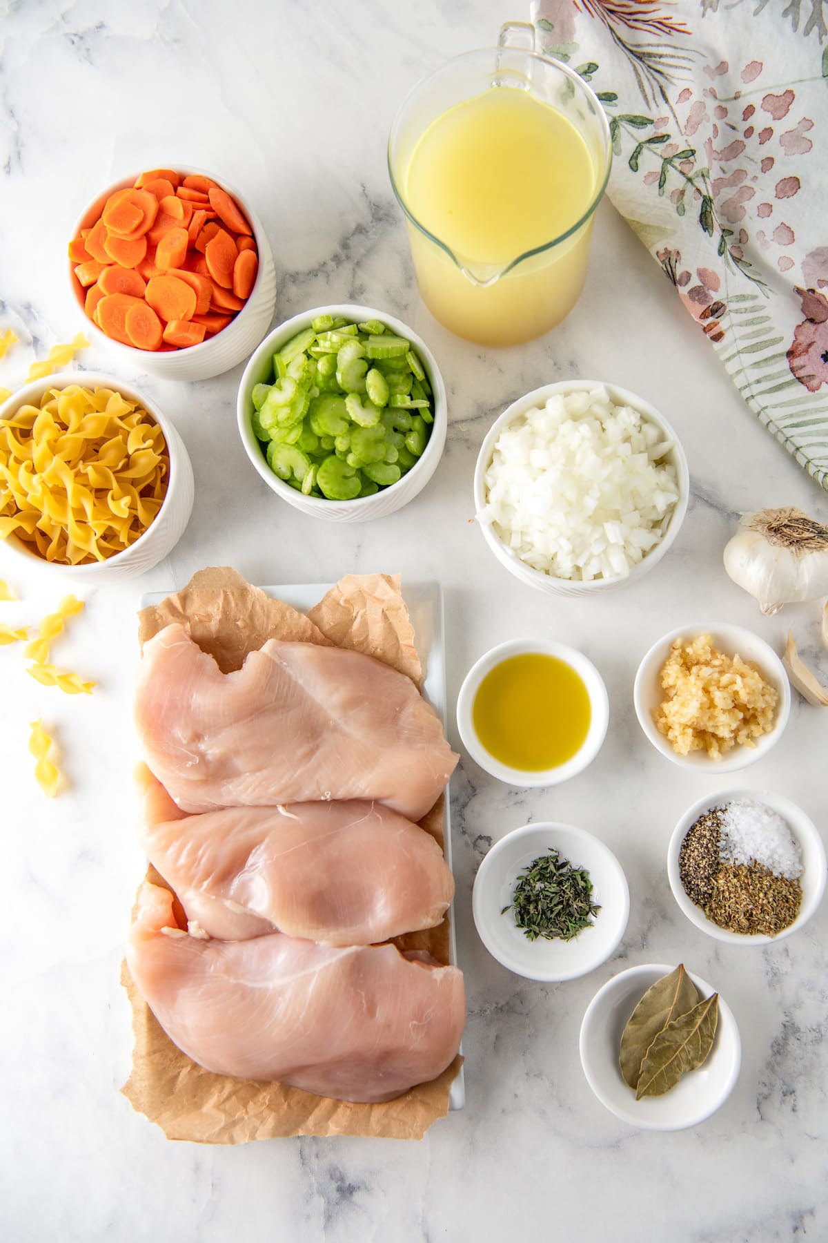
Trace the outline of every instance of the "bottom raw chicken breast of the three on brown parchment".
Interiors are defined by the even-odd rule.
[[[178,930],[173,894],[148,883],[127,963],[170,1039],[207,1070],[339,1100],[391,1100],[434,1079],[463,1030],[457,967],[281,932],[201,940]]]

